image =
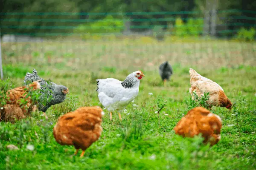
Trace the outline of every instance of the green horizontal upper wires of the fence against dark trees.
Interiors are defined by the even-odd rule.
[[[215,29],[219,37],[234,36],[242,27],[255,28],[256,17],[241,13],[256,14],[256,11],[222,10],[217,11],[215,26],[209,23],[208,29],[202,11],[160,11],[124,13],[69,13],[69,12],[10,12],[0,13],[1,34],[26,36],[83,36],[83,35],[122,35],[124,31],[140,33],[155,31],[165,35],[201,35]],[[187,14],[189,17],[182,17]],[[81,18],[85,16],[86,19]],[[111,18],[108,18],[111,16]],[[178,24],[177,18],[182,20]],[[81,19],[80,19],[81,18]],[[211,20],[211,19],[210,19]],[[241,22],[242,21],[242,22]],[[211,21],[212,22],[212,21]],[[126,26],[126,23],[130,23]],[[214,27],[214,28],[213,28]],[[182,31],[184,33],[182,33]]]

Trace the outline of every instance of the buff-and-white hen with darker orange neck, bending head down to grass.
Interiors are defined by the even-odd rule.
[[[189,93],[191,94],[193,99],[194,91],[199,97],[204,96],[204,93],[209,92],[208,104],[210,106],[213,105],[226,107],[229,110],[231,109],[232,102],[230,101],[230,99],[228,99],[220,85],[210,79],[201,76],[192,68],[189,69],[189,74],[191,85],[191,88],[189,88]]]

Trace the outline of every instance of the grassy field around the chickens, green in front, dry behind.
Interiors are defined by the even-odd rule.
[[[4,74],[15,87],[27,71],[65,85],[70,95],[60,105],[16,124],[0,122],[0,169],[3,170],[253,170],[256,169],[256,45],[228,41],[99,43],[5,43]],[[158,65],[169,60],[174,74],[166,88]],[[200,137],[183,139],[173,128],[189,110],[189,68],[217,82],[234,104],[212,108],[223,126],[213,147]],[[145,77],[139,96],[122,113],[103,117],[100,139],[83,158],[72,156],[73,146],[61,146],[52,134],[58,116],[80,106],[100,105],[96,78],[123,80],[136,70]],[[152,93],[153,95],[149,95]],[[158,124],[157,99],[166,106]],[[134,105],[135,104],[135,105]],[[15,144],[20,150],[7,150]],[[34,149],[28,150],[27,146]],[[79,152],[81,153],[81,151]]]

